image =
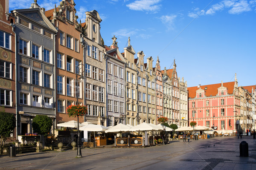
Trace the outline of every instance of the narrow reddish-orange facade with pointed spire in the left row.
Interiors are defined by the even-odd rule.
[[[151,85],[151,89],[155,89],[154,92],[155,94],[152,94],[152,99],[151,102],[154,103],[155,108],[152,108],[152,114],[155,114],[155,119],[157,120],[158,117],[165,116],[167,117],[167,113],[163,111],[163,105],[166,105],[165,101],[163,101],[163,79],[162,79],[162,73],[161,73],[161,68],[160,68],[160,61],[157,56],[157,62],[156,62],[156,67],[154,68],[154,83]],[[156,111],[156,112],[155,112]],[[157,122],[158,124],[159,122]]]

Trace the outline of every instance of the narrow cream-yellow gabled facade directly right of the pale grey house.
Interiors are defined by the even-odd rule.
[[[138,117],[138,77],[137,65],[134,63],[134,55],[136,52],[128,38],[128,46],[124,48],[125,59],[125,123],[136,126],[140,123]]]

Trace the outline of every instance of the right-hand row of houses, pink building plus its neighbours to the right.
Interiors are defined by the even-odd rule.
[[[212,127],[218,133],[255,129],[255,88],[234,82],[189,87],[189,123]]]

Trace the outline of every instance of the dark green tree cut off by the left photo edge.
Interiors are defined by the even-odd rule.
[[[3,148],[3,138],[9,137],[16,127],[16,119],[14,114],[0,112],[0,150],[2,153]]]

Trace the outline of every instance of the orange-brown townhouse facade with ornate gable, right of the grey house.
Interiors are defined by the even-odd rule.
[[[58,7],[46,11],[47,18],[58,30],[55,40],[55,111],[56,124],[76,118],[69,117],[66,108],[84,104],[83,81],[78,79],[83,70],[84,44],[81,24],[77,22],[73,0],[63,0]],[[78,96],[78,103],[77,103]],[[79,119],[79,122],[84,122]]]

